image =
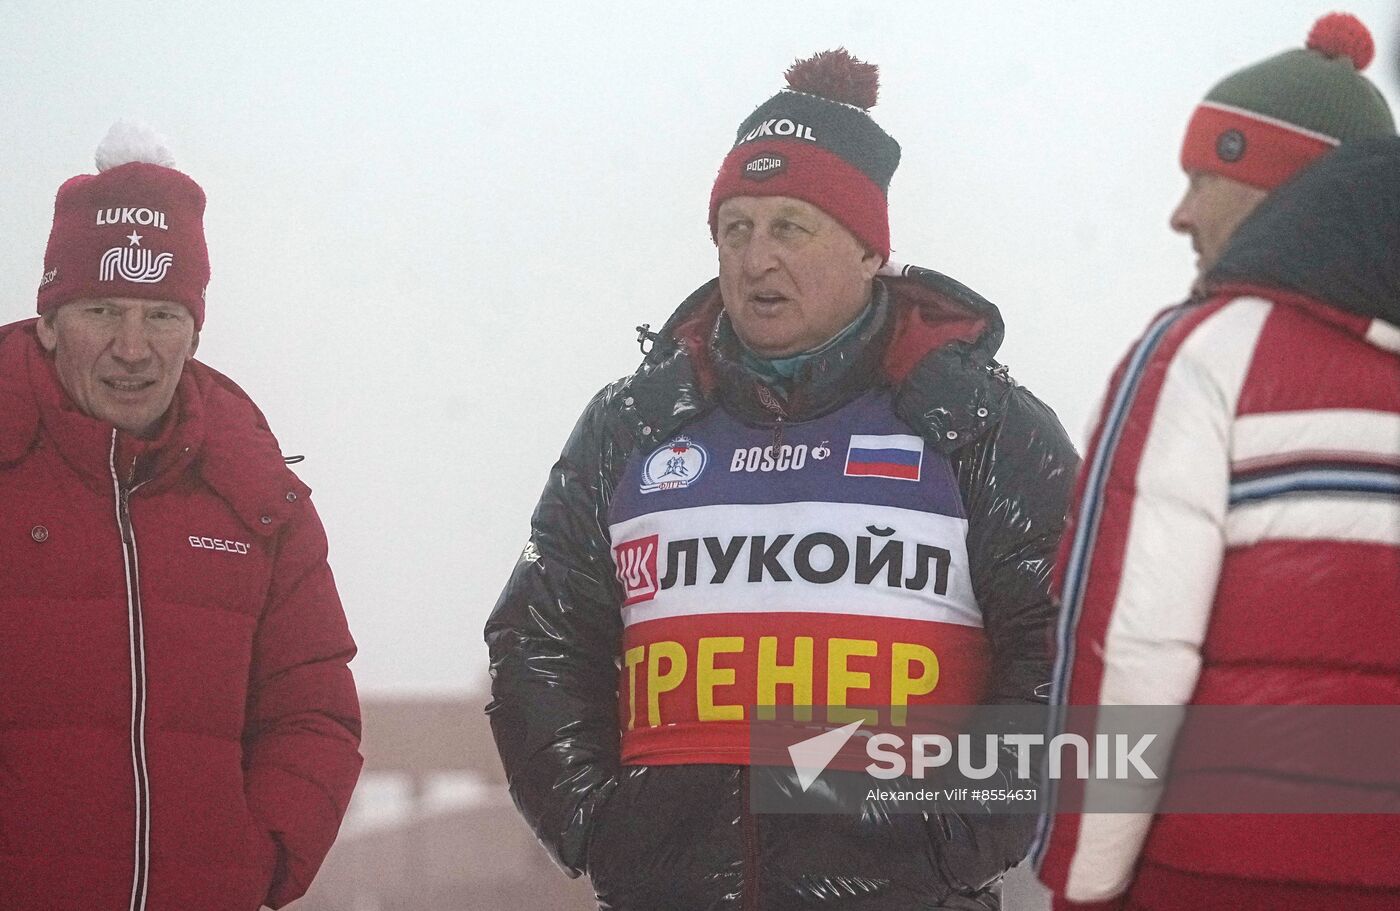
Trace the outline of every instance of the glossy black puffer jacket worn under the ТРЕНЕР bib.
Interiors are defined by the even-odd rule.
[[[995,306],[930,270],[878,281],[878,318],[804,367],[784,420],[896,388],[900,418],[951,458],[969,515],[991,654],[986,702],[1042,702],[1050,564],[1078,458],[1054,414],[993,360],[1002,339]],[[634,449],[655,448],[711,409],[777,423],[731,341],[711,281],[682,304],[636,374],[594,397],[550,473],[486,627],[487,712],[511,795],[553,858],[592,876],[603,908],[994,908],[995,883],[1023,856],[1033,817],[753,816],[748,768],[619,761],[623,596],[609,505]],[[959,904],[976,893],[977,904]]]

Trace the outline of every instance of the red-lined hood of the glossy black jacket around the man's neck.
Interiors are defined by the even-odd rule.
[[[890,263],[878,281],[888,312],[851,340],[855,350],[834,367],[806,365],[812,376],[825,376],[819,395],[802,385],[794,390],[804,409],[794,420],[888,385],[896,388],[899,416],[939,451],[976,442],[1001,418],[1015,385],[994,357],[1004,336],[997,306],[931,269]],[[680,304],[641,367],[619,388],[619,407],[643,444],[669,439],[720,402],[741,417],[753,414],[755,386],[762,383],[732,360],[717,357],[724,348],[715,343],[722,311],[714,278]],[[757,409],[757,414],[773,414],[762,403]]]

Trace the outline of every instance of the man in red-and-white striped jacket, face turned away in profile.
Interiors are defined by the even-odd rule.
[[[1400,705],[1400,139],[1371,56],[1361,22],[1323,17],[1191,118],[1172,227],[1197,294],[1124,358],[1092,435],[1057,570],[1060,705]],[[1298,714],[1240,709],[1235,733]],[[1218,751],[1179,750],[1151,796],[1296,786],[1302,746],[1210,775],[1187,757]],[[1358,785],[1400,798],[1344,764],[1306,791]],[[1397,854],[1390,816],[1221,812],[1051,816],[1033,856],[1057,908],[1357,911],[1400,907]]]

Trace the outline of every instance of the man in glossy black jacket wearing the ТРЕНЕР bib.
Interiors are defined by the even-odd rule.
[[[822,53],[788,85],[715,181],[720,277],[554,465],[487,711],[603,908],[994,908],[1029,816],[749,809],[755,705],[1043,702],[1077,467],[993,360],[997,308],[888,263],[875,67]]]

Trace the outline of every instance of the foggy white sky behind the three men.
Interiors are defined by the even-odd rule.
[[[1348,3],[1393,108],[1396,7]],[[897,262],[1000,305],[1075,441],[1194,256],[1187,118],[1326,0],[0,0],[0,322],[118,118],[209,195],[200,360],[315,490],[365,693],[486,684],[482,624],[574,418],[715,271],[710,185],[797,57],[881,67]]]

